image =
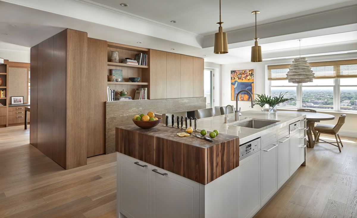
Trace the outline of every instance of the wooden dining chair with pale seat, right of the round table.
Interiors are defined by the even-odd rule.
[[[343,145],[342,145],[342,141],[341,141],[340,135],[338,135],[338,131],[340,131],[341,127],[343,126],[343,123],[345,123],[345,119],[346,119],[346,115],[342,114],[338,118],[337,124],[335,126],[334,125],[329,125],[329,124],[317,124],[314,127],[314,130],[317,131],[317,136],[316,136],[316,139],[314,141],[314,145],[316,143],[329,143],[329,144],[331,144],[333,146],[338,147],[338,150],[340,150],[340,152],[341,152],[341,147],[340,147],[340,144],[338,143],[338,140],[340,140],[340,143],[341,143],[342,147],[343,147]],[[332,144],[331,142],[327,142],[327,141],[324,141],[324,140],[320,139],[321,133],[328,134],[328,135],[335,135],[337,145]],[[338,139],[337,139],[337,137],[338,137]],[[322,141],[322,142],[320,142],[319,140]]]

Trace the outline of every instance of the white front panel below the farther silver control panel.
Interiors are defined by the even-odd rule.
[[[300,134],[295,131],[290,134],[290,176],[300,166]]]

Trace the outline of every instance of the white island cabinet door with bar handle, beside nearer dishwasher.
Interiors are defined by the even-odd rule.
[[[261,150],[261,204],[264,205],[277,191],[277,144]]]

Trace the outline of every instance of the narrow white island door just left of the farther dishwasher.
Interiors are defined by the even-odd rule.
[[[290,178],[289,136],[278,140],[278,189]]]

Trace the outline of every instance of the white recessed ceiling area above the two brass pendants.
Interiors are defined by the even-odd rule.
[[[79,1],[95,2],[97,6],[121,10],[200,35],[210,35],[218,29],[219,0]],[[121,3],[129,6],[120,6]],[[252,26],[255,16],[251,12],[255,10],[261,12],[257,15],[257,23],[265,24],[354,4],[355,0],[222,0],[221,11],[224,30],[229,31]],[[177,22],[173,24],[171,20]]]

